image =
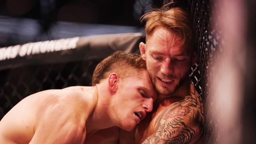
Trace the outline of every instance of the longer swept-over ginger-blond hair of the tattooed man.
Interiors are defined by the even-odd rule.
[[[180,47],[193,45],[191,20],[189,19],[188,13],[180,7],[169,8],[163,6],[160,9],[154,9],[154,11],[143,15],[140,21],[146,21],[146,42],[148,36],[152,35],[154,29],[162,26],[168,30],[172,30],[182,38]]]

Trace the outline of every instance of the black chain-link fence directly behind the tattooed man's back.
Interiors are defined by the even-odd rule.
[[[221,37],[218,34],[219,31],[215,31],[212,26],[212,24],[214,24],[213,7],[216,6],[216,4],[211,0],[190,0],[189,5],[191,11],[190,14],[193,17],[193,28],[195,31],[198,55],[197,74],[199,75],[195,75],[199,76],[197,78],[200,80],[200,85],[198,87],[202,90],[201,96],[204,104],[204,119],[206,122],[204,124],[205,143],[210,143],[210,139],[214,136],[211,135],[213,133],[213,129],[211,127],[212,121],[208,120],[209,111],[206,111],[206,107],[208,106],[206,100],[208,99],[208,92],[210,89],[207,79],[211,76],[208,70],[210,68],[214,68],[211,67],[211,65],[213,65],[213,57],[218,56],[217,52],[219,52],[219,50],[217,50],[217,48],[221,48]],[[217,140],[217,137],[214,138]]]

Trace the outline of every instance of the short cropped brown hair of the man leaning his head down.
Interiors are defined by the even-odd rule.
[[[93,72],[92,86],[100,83],[101,79],[108,78],[112,72],[117,73],[120,78],[125,78],[126,76],[137,76],[141,70],[146,69],[146,62],[141,55],[117,51],[96,66]]]

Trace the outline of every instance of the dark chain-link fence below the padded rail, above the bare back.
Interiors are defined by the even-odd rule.
[[[32,65],[0,72],[0,118],[20,100],[35,92],[90,86],[93,70],[100,60],[63,64]]]

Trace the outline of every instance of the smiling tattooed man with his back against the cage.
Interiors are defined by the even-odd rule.
[[[202,100],[189,79],[197,54],[188,14],[178,7],[145,14],[146,44],[139,44],[158,91],[152,113],[133,133],[122,131],[122,144],[198,144],[203,142]]]

